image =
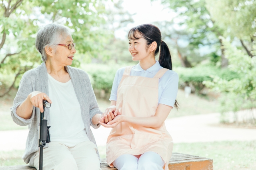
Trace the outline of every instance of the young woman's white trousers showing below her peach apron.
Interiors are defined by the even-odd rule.
[[[118,170],[163,170],[164,164],[156,152],[145,152],[141,156],[123,154],[113,162]]]

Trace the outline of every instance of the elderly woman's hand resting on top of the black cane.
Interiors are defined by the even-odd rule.
[[[50,104],[52,104],[52,101],[50,98],[42,92],[39,91],[34,91],[28,95],[30,98],[30,102],[32,103],[33,106],[40,108],[40,111],[44,111],[43,107],[43,100],[47,100]]]

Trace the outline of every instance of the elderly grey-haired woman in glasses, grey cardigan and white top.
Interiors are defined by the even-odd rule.
[[[100,170],[100,159],[90,125],[97,129],[102,112],[83,70],[71,67],[75,43],[70,29],[60,24],[42,27],[36,37],[36,49],[43,63],[27,71],[11,107],[12,119],[28,125],[26,150],[22,157],[30,166],[39,167],[39,123],[42,101],[51,142],[43,154],[44,170]]]

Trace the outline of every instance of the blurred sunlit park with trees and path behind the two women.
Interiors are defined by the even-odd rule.
[[[173,151],[212,158],[214,170],[256,169],[254,0],[1,0],[0,166],[25,164],[28,127],[12,121],[10,107],[24,72],[42,62],[34,43],[47,23],[72,29],[72,66],[90,75],[102,111],[116,70],[138,63],[128,31],[156,25],[180,78],[180,109],[165,122]],[[93,130],[101,157],[109,131]]]

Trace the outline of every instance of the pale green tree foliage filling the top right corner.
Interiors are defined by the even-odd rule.
[[[256,38],[256,1],[206,0],[211,18],[224,31],[224,37],[237,37],[246,53],[251,53]]]

